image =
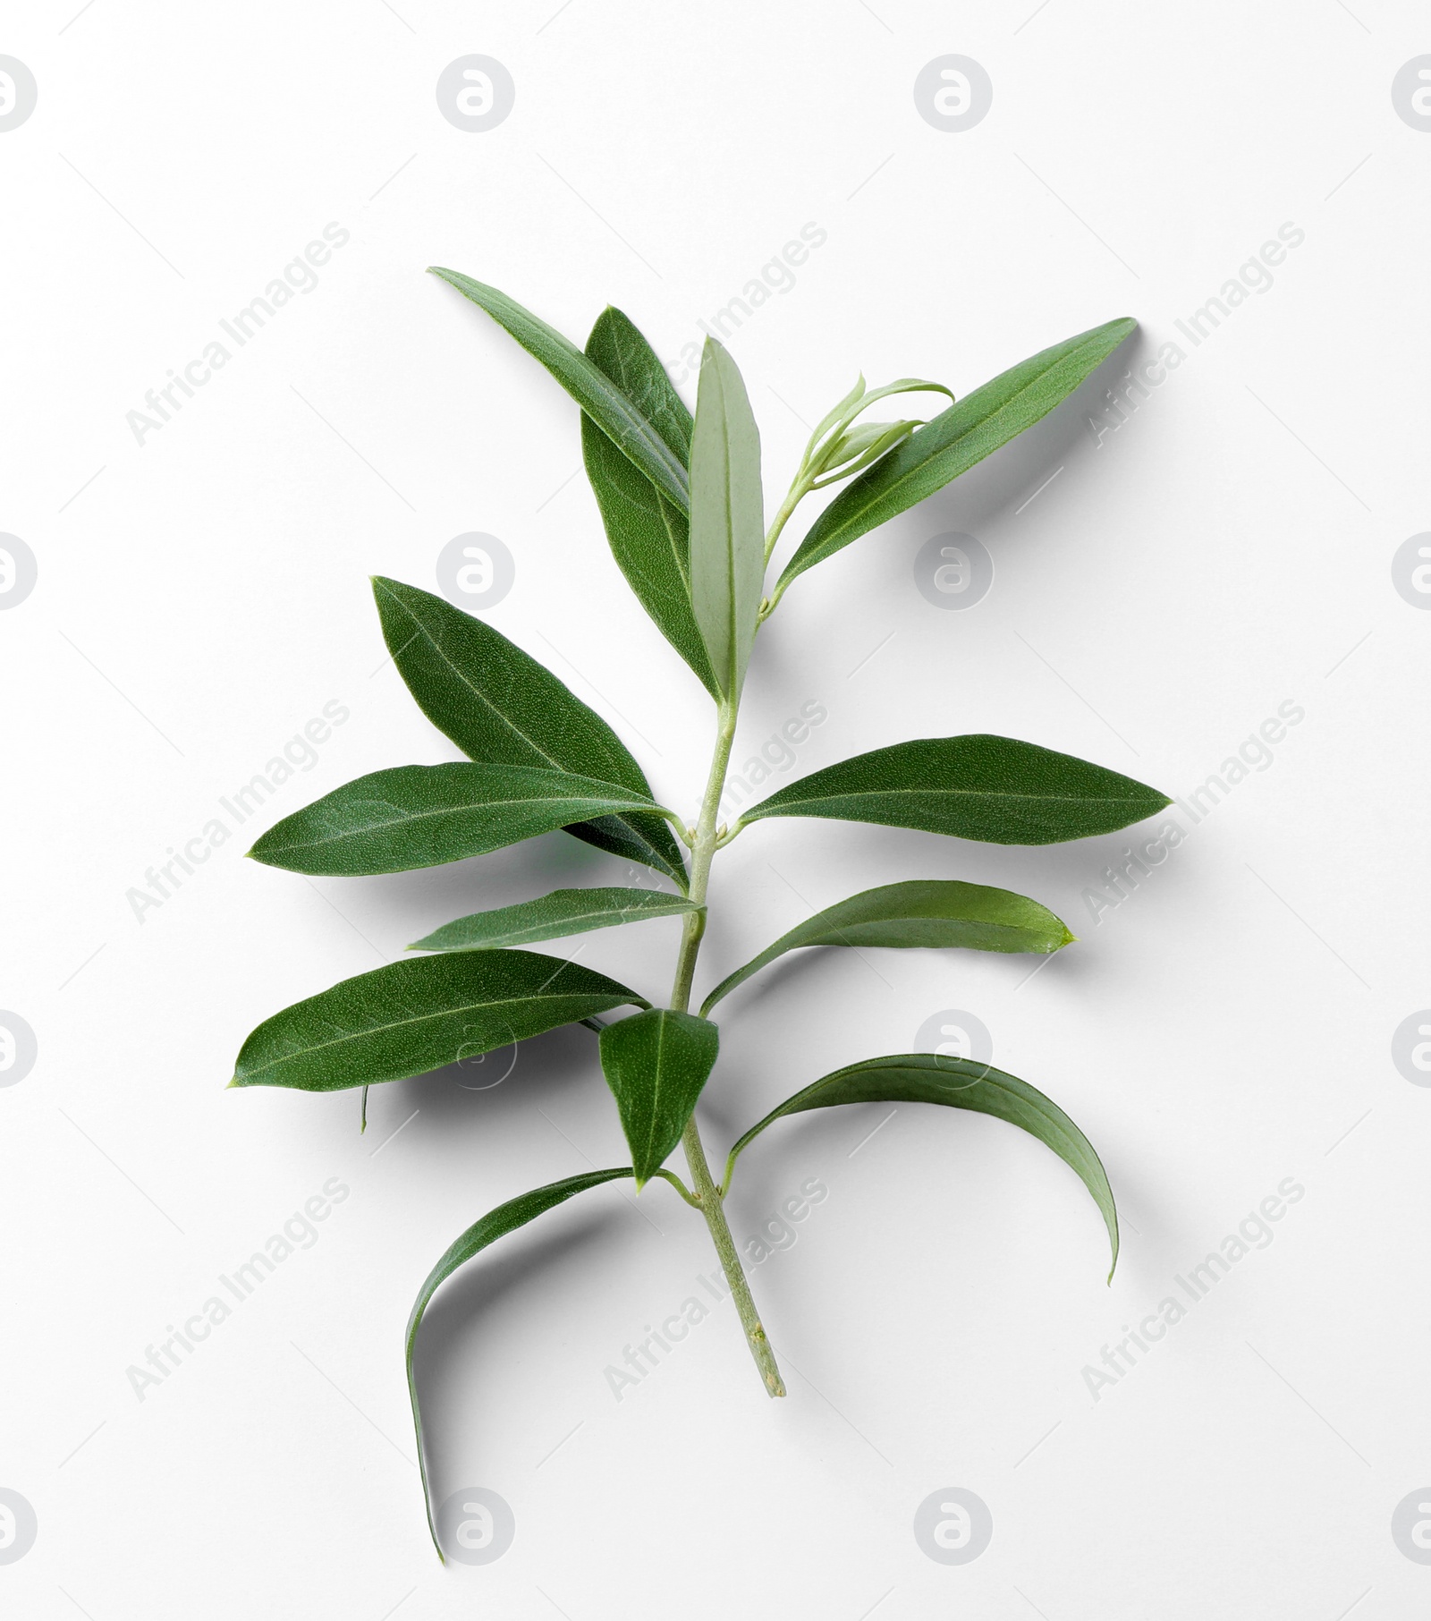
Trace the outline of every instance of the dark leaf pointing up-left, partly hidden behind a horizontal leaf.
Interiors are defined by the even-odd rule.
[[[465,755],[595,776],[651,798],[645,772],[621,738],[515,642],[415,585],[379,575],[373,595],[382,637],[418,708]],[[686,888],[681,846],[658,815],[598,817],[567,832]]]

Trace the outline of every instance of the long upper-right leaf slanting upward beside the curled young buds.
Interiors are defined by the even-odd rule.
[[[852,540],[943,490],[1065,400],[1136,329],[1128,316],[1079,332],[966,394],[877,462],[815,519],[780,588]]]

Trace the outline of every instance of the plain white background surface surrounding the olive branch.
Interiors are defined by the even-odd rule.
[[[39,1041],[0,1091],[0,1486],[39,1520],[0,1566],[6,1615],[1423,1615],[1431,1569],[1390,1517],[1431,1478],[1431,1094],[1390,1037],[1431,1002],[1431,618],[1390,559],[1428,527],[1431,135],[1390,83],[1431,50],[1425,13],[75,8],[13,6],[0,36],[39,84],[0,135],[0,528],[39,559],[0,614],[0,1005]],[[517,88],[488,133],[434,101],[468,52]],[[966,133],[912,99],[948,52],[993,81]],[[318,287],[138,444],[144,392],[329,222],[350,242]],[[444,1571],[407,1310],[485,1209],[621,1161],[595,1044],[535,1041],[489,1091],[384,1088],[363,1138],[355,1094],[225,1081],[254,1023],[416,934],[626,874],[562,835],[371,880],[240,856],[361,772],[454,757],[384,663],[366,575],[434,588],[463,530],[515,556],[489,622],[694,807],[708,702],[627,592],[585,480],[566,481],[575,408],[423,269],[494,282],[579,342],[613,302],[674,360],[807,222],[828,240],[729,337],[771,509],[801,418],[857,370],[964,392],[1115,314],[1143,327],[1019,446],[791,590],[737,765],[815,700],[828,720],[781,780],[995,731],[1186,796],[1280,704],[1305,720],[1099,921],[1086,892],[1131,833],[1031,851],[771,822],[723,854],[707,984],[809,911],[911,877],[1026,890],[1081,942],[1027,981],[1031,960],[977,953],[792,960],[726,1003],[711,1149],[968,1010],[1097,1144],[1121,1266],[1104,1287],[1096,1209],[1010,1127],[904,1106],[859,1146],[888,1109],[805,1117],[749,1153],[729,1200],[744,1238],[805,1178],[830,1190],[752,1274],[789,1399],[765,1399],[721,1307],[617,1402],[604,1367],[713,1255],[669,1188],[639,1206],[600,1190],[433,1308],[436,1495],[481,1485],[517,1520],[499,1561]],[[1194,347],[1175,321],[1287,222],[1305,243],[1274,285]],[[1091,430],[1102,387],[1167,342],[1183,363]],[[914,584],[950,530],[995,559],[969,611]],[[331,699],[350,718],[318,763],[136,921],[146,869]],[[660,997],[677,927],[593,935],[582,960]],[[319,1240],[139,1401],[128,1367],[334,1177],[350,1196]],[[1096,1401],[1100,1347],[1284,1178],[1305,1196],[1274,1242]],[[912,1535],[946,1486],[993,1514],[964,1566]]]

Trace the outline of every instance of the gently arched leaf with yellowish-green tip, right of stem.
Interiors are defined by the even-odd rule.
[[[705,999],[710,1010],[736,986],[786,952],[805,945],[966,947],[976,952],[1057,952],[1073,940],[1068,929],[1037,901],[1011,890],[945,879],[885,883],[827,906],[783,934],[758,956],[723,979]]]

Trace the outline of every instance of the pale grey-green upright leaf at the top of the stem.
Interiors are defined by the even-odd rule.
[[[750,661],[763,579],[760,431],[736,361],[708,337],[690,438],[690,601],[731,702]]]

